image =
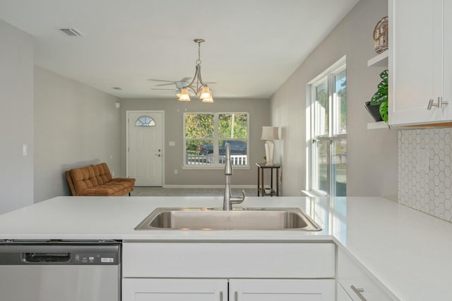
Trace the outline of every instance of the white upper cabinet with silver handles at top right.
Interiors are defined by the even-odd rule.
[[[452,0],[389,0],[389,124],[451,121],[451,6]]]

